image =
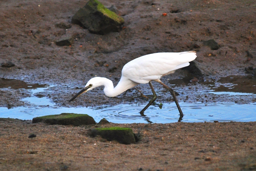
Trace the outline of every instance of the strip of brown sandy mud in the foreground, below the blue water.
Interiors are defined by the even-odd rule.
[[[131,145],[89,137],[88,129],[96,126],[0,119],[0,168],[6,171],[255,169],[255,122],[107,125],[140,132],[140,141]],[[31,133],[36,137],[28,138]]]

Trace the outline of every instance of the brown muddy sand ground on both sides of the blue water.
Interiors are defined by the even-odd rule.
[[[195,63],[204,74],[197,79],[203,83],[216,77],[247,75],[245,67],[255,68],[255,1],[107,0],[102,3],[106,7],[116,6],[118,15],[125,20],[120,32],[97,35],[77,25],[71,24],[70,29],[56,26],[61,22],[69,25],[71,17],[86,2],[2,0],[0,63],[11,61],[15,66],[0,67],[0,77],[55,85],[48,96],[60,106],[95,106],[133,102],[130,98],[134,94],[107,98],[103,92],[98,93],[102,88],[97,88],[68,103],[78,91],[72,88],[83,87],[94,76],[107,77],[116,85],[125,63],[150,53],[195,50],[198,56]],[[75,38],[72,46],[55,45],[55,41],[67,35]],[[214,39],[219,49],[211,50],[203,44],[209,39]],[[194,78],[188,71],[179,70],[163,81],[168,83],[183,77]],[[151,94],[146,91],[148,85],[139,89]],[[178,100],[185,100],[186,96],[191,101],[213,99],[190,92],[185,88]],[[25,96],[29,96],[26,91],[2,88],[0,106],[28,105],[20,100]],[[158,100],[167,99],[163,95]],[[220,96],[214,100],[234,101]],[[90,138],[86,135],[90,127],[49,126],[19,120],[4,120],[0,124],[1,170],[254,170],[256,167],[255,123],[119,125],[141,132],[141,141],[134,145]],[[29,133],[37,137],[29,139]]]

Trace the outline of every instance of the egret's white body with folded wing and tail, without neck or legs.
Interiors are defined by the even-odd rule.
[[[128,62],[122,69],[122,76],[136,83],[145,84],[188,66],[195,58],[195,51],[149,54]]]

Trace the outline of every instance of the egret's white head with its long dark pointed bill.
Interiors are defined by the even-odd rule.
[[[103,85],[102,84],[102,78],[101,77],[94,77],[94,78],[91,78],[88,83],[85,85],[85,87],[80,91],[78,92],[72,99],[69,100],[69,102],[71,102],[72,100],[74,100],[75,98],[77,98],[77,96],[89,91],[89,90],[92,90],[93,88],[96,88],[98,86],[101,86]]]

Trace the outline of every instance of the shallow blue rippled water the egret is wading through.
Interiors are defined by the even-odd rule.
[[[230,77],[228,77],[230,78]],[[234,77],[231,77],[233,80]],[[256,98],[253,84],[245,87],[247,90],[241,90],[242,86],[236,83],[223,83],[220,81],[209,81],[204,83],[209,88],[198,94],[221,94],[223,96],[253,96]],[[3,81],[3,80],[2,80]],[[8,87],[0,88],[14,88],[15,80],[12,84],[6,85]],[[20,81],[20,80],[19,80]],[[176,80],[180,81],[180,80]],[[175,81],[172,81],[175,83]],[[188,83],[190,84],[190,83]],[[100,119],[106,118],[113,123],[171,123],[171,122],[213,122],[213,121],[240,121],[250,122],[256,121],[256,103],[236,104],[236,103],[187,103],[179,102],[183,111],[183,118],[180,118],[179,111],[174,102],[163,103],[163,107],[159,108],[159,104],[150,106],[145,112],[144,116],[140,115],[141,109],[145,104],[119,104],[116,106],[99,106],[99,107],[59,107],[55,105],[47,96],[35,96],[33,94],[44,92],[51,88],[49,85],[29,84],[22,81],[18,84],[17,89],[28,89],[32,96],[23,98],[23,101],[29,102],[32,107],[0,107],[0,117],[3,118],[18,118],[18,119],[32,119],[38,116],[55,115],[61,113],[77,113],[88,114],[92,116],[96,122]],[[177,83],[175,84],[177,87]],[[181,85],[180,85],[181,86]],[[248,86],[251,88],[248,89]],[[176,91],[182,90],[182,86],[176,88]],[[161,90],[164,91],[164,90]],[[161,93],[159,91],[158,93]]]

